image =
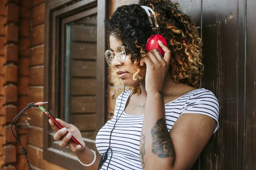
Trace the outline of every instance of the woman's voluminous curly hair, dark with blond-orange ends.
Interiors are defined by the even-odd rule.
[[[195,23],[188,15],[182,13],[178,3],[171,0],[140,0],[140,5],[153,8],[160,27],[160,34],[165,37],[172,52],[169,73],[175,82],[198,88],[204,65],[201,63],[201,38]],[[155,34],[148,20],[148,15],[138,4],[120,6],[112,17],[105,20],[106,36],[112,35],[125,46],[126,54],[139,76],[140,59],[146,55],[146,42]],[[202,66],[202,67],[201,67]],[[134,89],[136,87],[132,87]]]

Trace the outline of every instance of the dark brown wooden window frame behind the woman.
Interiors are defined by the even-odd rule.
[[[105,124],[107,121],[107,91],[108,91],[108,79],[107,79],[107,65],[103,56],[105,51],[105,31],[104,19],[106,16],[106,1],[102,0],[97,4],[97,0],[46,0],[45,1],[45,43],[44,43],[44,101],[49,103],[45,107],[52,113],[53,116],[58,116],[59,101],[56,96],[58,91],[55,91],[58,87],[58,74],[56,71],[60,65],[56,62],[61,56],[61,45],[64,40],[60,40],[59,37],[63,37],[63,18],[67,18],[71,15],[76,15],[79,18],[79,13],[83,14],[85,10],[95,10],[97,13],[97,94],[96,94],[96,131]],[[90,11],[92,12],[92,11]],[[65,20],[67,22],[68,19]],[[62,24],[61,24],[62,22]],[[102,57],[103,56],[103,57]],[[58,150],[52,149],[51,145],[54,142],[52,138],[53,133],[48,123],[48,117],[44,116],[44,154],[43,158],[53,164],[57,164],[61,167],[69,170],[81,170],[84,168],[78,163],[76,159],[73,159],[69,154],[58,152]],[[85,141],[86,145],[92,149],[95,148],[95,144],[90,140]],[[65,150],[65,148],[64,148]],[[61,149],[63,151],[63,149]]]

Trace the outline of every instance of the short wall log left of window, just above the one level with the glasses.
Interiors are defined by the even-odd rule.
[[[35,27],[31,30],[30,45],[42,45],[44,44],[44,25]]]

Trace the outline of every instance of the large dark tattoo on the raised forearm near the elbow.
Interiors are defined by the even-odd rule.
[[[160,158],[175,157],[171,136],[167,130],[165,119],[159,119],[151,129],[152,153]]]

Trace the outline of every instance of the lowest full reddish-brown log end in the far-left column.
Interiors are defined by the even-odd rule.
[[[3,160],[5,163],[16,162],[16,147],[12,144],[3,147]]]

